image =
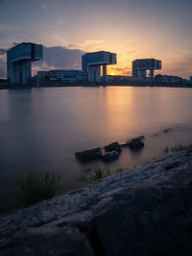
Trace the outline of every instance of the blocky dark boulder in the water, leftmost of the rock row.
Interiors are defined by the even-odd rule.
[[[85,150],[83,152],[76,153],[76,158],[81,162],[100,159],[101,156],[102,156],[102,150],[100,147],[96,147],[96,148]]]

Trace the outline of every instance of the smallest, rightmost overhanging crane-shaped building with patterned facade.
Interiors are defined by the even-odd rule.
[[[132,76],[146,77],[147,70],[150,70],[150,76],[154,78],[154,70],[161,69],[161,61],[156,59],[138,59],[132,62]]]

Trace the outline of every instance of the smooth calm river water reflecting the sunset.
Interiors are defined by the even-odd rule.
[[[164,129],[171,128],[168,133]],[[125,148],[110,164],[80,164],[75,152],[145,135],[145,148]],[[130,168],[192,142],[192,90],[171,88],[52,88],[0,90],[0,203],[15,199],[28,170],[60,174],[60,192],[81,187],[88,168]]]

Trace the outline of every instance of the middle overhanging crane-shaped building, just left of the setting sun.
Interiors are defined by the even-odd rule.
[[[82,56],[82,69],[88,73],[88,81],[107,81],[107,65],[117,64],[116,54],[106,51],[86,53]],[[103,74],[101,77],[101,66]]]

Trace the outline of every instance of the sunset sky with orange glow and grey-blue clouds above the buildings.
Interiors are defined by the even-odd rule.
[[[33,71],[81,69],[84,52],[117,53],[108,74],[132,75],[132,61],[156,58],[156,73],[192,75],[192,0],[0,0],[0,77],[6,50],[44,46]]]

